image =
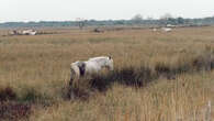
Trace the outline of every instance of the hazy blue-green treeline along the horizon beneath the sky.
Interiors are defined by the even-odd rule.
[[[102,26],[102,25],[212,25],[214,16],[203,19],[184,19],[184,18],[161,18],[161,19],[143,19],[139,15],[131,20],[83,20],[83,21],[41,21],[41,22],[5,22],[0,23],[0,28],[42,28],[42,26]]]

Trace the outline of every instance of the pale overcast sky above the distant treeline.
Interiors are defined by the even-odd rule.
[[[214,15],[214,0],[0,0],[0,22]]]

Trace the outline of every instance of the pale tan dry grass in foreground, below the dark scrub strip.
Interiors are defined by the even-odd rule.
[[[31,119],[36,121],[202,120],[203,109],[206,108],[212,95],[211,89],[206,88],[207,84],[213,85],[210,81],[214,78],[213,73],[211,75],[182,75],[176,80],[160,79],[140,89],[115,84],[105,95],[98,94],[89,101],[64,101],[47,110],[36,109]]]

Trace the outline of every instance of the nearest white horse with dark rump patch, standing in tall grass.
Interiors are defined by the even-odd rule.
[[[113,59],[108,56],[89,58],[86,62],[75,62],[70,64],[70,81],[78,80],[80,77],[99,74],[100,70],[106,68],[113,70]]]

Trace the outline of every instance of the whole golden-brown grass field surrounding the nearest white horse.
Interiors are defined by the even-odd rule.
[[[214,103],[213,26],[169,33],[44,31],[57,34],[0,36],[0,120],[209,121],[207,103]],[[146,81],[140,87],[109,80],[113,82],[106,90],[90,90],[87,99],[66,99],[70,63],[101,55],[111,55],[119,72],[134,68],[140,76],[146,70],[135,68],[146,67],[156,77],[138,80]],[[122,74],[135,77],[128,75]]]

